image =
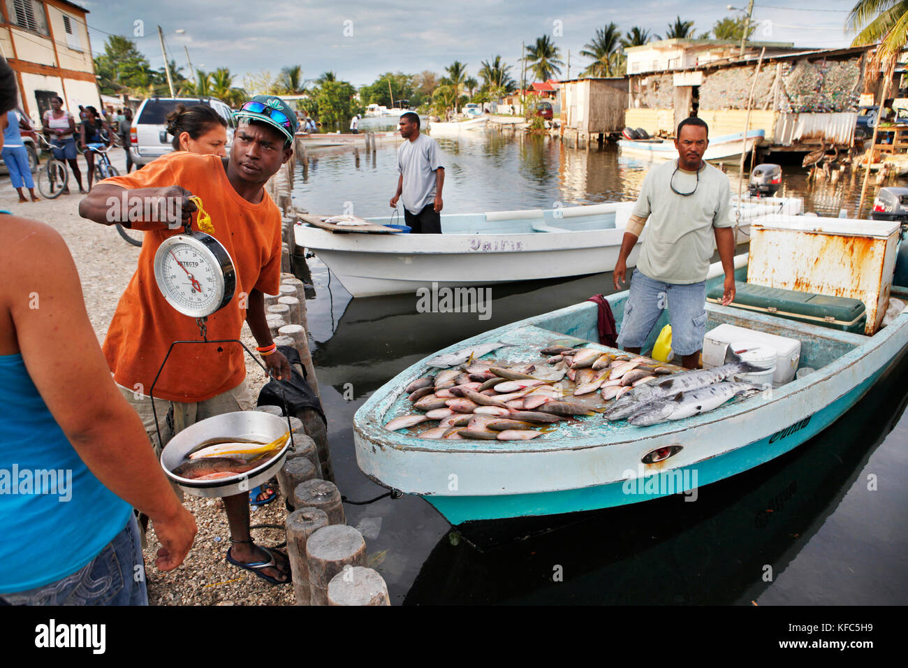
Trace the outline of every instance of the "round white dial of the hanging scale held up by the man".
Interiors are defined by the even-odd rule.
[[[236,273],[230,254],[210,234],[169,237],[154,254],[154,279],[174,309],[193,318],[213,314],[230,303]]]

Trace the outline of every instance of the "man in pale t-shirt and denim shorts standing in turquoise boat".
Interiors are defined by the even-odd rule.
[[[708,126],[696,116],[678,125],[678,157],[646,173],[613,274],[615,288],[620,290],[627,255],[649,218],[637,269],[631,275],[618,345],[639,354],[667,307],[672,350],[688,369],[699,364],[706,334],[706,274],[714,237],[725,270],[722,304],[735,299],[731,187],[725,174],[703,160],[708,135]]]

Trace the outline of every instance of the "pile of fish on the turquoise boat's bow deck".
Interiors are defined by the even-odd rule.
[[[765,371],[733,361],[713,369],[685,371],[656,360],[593,347],[551,344],[540,351],[545,363],[507,365],[477,359],[508,344],[480,344],[427,363],[438,374],[410,383],[413,407],[390,431],[429,421],[438,426],[419,438],[527,440],[554,431],[556,423],[602,414],[635,426],[706,413],[735,396],[747,397],[766,385],[729,382],[738,374]],[[610,404],[609,404],[610,402]]]

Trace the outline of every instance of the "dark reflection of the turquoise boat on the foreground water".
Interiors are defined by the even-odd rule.
[[[485,553],[449,533],[404,603],[759,603],[845,494],[860,491],[864,465],[908,401],[901,381],[906,359],[847,419],[773,462],[701,488],[694,503],[675,496],[549,518],[535,529],[558,526],[559,519],[561,526],[517,542],[507,539],[513,523],[466,525]],[[873,529],[886,533],[885,526]],[[528,523],[524,533],[532,528]],[[496,540],[506,542],[494,546]],[[866,548],[867,560],[854,564],[847,582],[824,583],[826,594],[838,603],[903,603],[903,573],[882,589],[877,582],[870,565],[877,549]],[[834,562],[834,554],[825,559]]]

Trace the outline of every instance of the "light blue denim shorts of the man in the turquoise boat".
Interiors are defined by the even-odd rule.
[[[641,274],[631,274],[624,320],[618,333],[622,348],[642,348],[653,325],[668,309],[672,325],[672,350],[676,355],[694,354],[703,348],[706,336],[706,281],[692,284],[663,283]]]

